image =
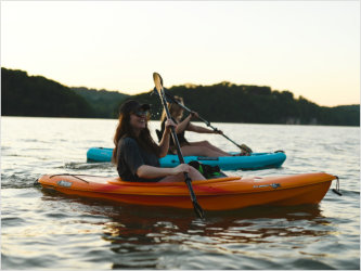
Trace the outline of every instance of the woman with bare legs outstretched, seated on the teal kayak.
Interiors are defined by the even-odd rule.
[[[182,98],[175,96],[175,99],[179,103],[184,104]],[[206,140],[189,142],[184,138],[185,131],[193,131],[193,132],[198,132],[198,133],[218,133],[218,134],[219,133],[221,134],[222,131],[220,131],[220,130],[215,131],[215,130],[210,130],[210,129],[207,129],[207,128],[204,128],[201,126],[193,125],[191,122],[191,119],[194,117],[198,117],[198,114],[196,112],[192,112],[188,117],[185,117],[182,120],[183,108],[176,103],[168,103],[168,109],[169,109],[172,120],[177,124],[176,133],[177,133],[178,140],[179,140],[179,144],[181,146],[182,154],[184,156],[195,155],[195,156],[206,156],[206,157],[218,157],[218,156],[249,155],[244,151],[242,151],[242,153],[232,155],[232,154],[227,153],[227,152],[218,149],[217,146],[210,144]],[[165,111],[163,111],[160,121],[162,121],[160,134],[163,134],[165,131],[165,124],[167,121]],[[173,143],[172,139],[170,139],[170,152],[176,153],[175,143]]]

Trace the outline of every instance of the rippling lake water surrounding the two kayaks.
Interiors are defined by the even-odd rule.
[[[360,128],[212,124],[254,152],[285,151],[282,168],[227,171],[340,178],[315,206],[206,212],[94,202],[34,188],[43,173],[116,176],[89,164],[113,147],[115,119],[1,118],[2,269],[360,269]],[[151,121],[152,131],[159,127]],[[155,136],[155,134],[154,134]],[[194,134],[236,151],[217,134]],[[332,188],[335,188],[333,182]]]

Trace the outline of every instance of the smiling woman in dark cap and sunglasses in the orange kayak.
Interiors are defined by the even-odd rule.
[[[149,104],[140,104],[134,100],[127,101],[120,107],[112,162],[117,166],[121,180],[176,182],[184,181],[184,172],[188,172],[192,180],[205,180],[188,164],[160,168],[159,158],[166,156],[169,149],[170,127],[176,125],[171,120],[165,121],[165,132],[157,145],[147,128],[149,111]]]

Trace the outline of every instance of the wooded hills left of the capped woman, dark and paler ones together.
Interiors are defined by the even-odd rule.
[[[1,114],[3,116],[115,118],[127,94],[68,88],[42,76],[1,68]]]

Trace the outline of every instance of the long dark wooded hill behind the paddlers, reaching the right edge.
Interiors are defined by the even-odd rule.
[[[209,121],[246,124],[296,124],[360,126],[360,105],[323,107],[287,90],[270,87],[220,82],[212,86],[175,86],[169,93],[180,95],[184,104]],[[132,96],[152,104],[154,119],[159,119],[162,104],[156,95]]]

